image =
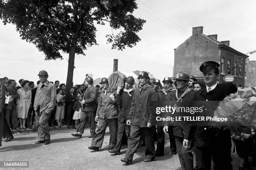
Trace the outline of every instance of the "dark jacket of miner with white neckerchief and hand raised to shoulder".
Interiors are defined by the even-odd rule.
[[[126,91],[121,91],[120,94],[116,95],[116,103],[118,104],[118,121],[123,122],[127,120],[131,109],[131,101],[133,99],[134,91],[131,91],[131,96]]]

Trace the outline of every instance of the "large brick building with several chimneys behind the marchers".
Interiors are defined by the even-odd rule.
[[[192,36],[174,49],[174,76],[185,71],[197,79],[202,79],[199,70],[204,61],[220,64],[219,81],[225,75],[234,75],[233,84],[244,86],[246,55],[229,46],[230,41],[218,41],[217,34],[206,36],[203,27],[193,27]]]

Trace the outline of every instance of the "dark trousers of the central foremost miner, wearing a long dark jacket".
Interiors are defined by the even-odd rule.
[[[125,154],[125,158],[133,160],[133,155],[139,145],[141,133],[145,135],[145,155],[148,159],[155,159],[155,144],[154,144],[154,129],[153,127],[138,127],[131,124],[131,133],[128,138],[128,148]]]

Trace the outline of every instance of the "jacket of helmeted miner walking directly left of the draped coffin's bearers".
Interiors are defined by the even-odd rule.
[[[84,104],[82,110],[86,112],[94,112],[96,110],[96,88],[94,86],[88,87],[84,93],[83,99]]]

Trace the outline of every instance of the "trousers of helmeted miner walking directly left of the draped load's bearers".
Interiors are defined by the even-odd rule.
[[[94,111],[82,111],[80,123],[77,126],[77,132],[84,133],[85,124],[87,122],[87,119],[89,119],[89,127],[90,127],[90,133],[92,135],[95,134],[95,117],[94,117]]]

